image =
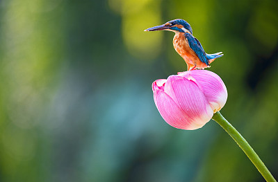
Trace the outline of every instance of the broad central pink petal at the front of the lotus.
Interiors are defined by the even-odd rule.
[[[194,80],[171,75],[167,78],[165,93],[177,103],[190,120],[199,125],[211,120],[213,110]]]

